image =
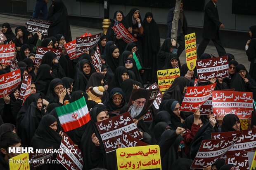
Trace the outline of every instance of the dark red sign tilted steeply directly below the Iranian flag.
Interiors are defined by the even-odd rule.
[[[67,170],[83,169],[83,153],[78,147],[75,146],[74,142],[69,138],[68,135],[66,135],[66,133],[64,133],[62,136],[62,142],[59,149],[66,149],[70,151],[73,149],[72,153],[59,153],[56,158]],[[74,149],[77,149],[77,152],[75,152]]]

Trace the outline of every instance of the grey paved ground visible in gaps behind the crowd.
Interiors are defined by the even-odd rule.
[[[26,18],[20,18],[20,17],[16,17],[16,16],[7,16],[7,15],[0,15],[0,25],[2,25],[2,23],[8,22],[10,23],[13,32],[15,31],[15,28],[17,26],[25,26],[25,23],[28,21],[28,19]],[[81,36],[83,33],[91,33],[93,34],[97,34],[97,33],[102,33],[101,29],[95,29],[95,28],[86,28],[86,27],[81,27],[81,26],[70,26],[71,28],[71,34],[73,39],[75,39],[75,37],[79,37]],[[164,39],[161,39],[161,44],[164,42]],[[199,42],[197,42],[199,43]],[[198,46],[199,44],[197,44]],[[238,50],[238,49],[228,49],[225,48],[227,53],[231,53],[235,56],[235,60],[239,63],[239,64],[243,64],[247,70],[249,71],[249,61],[247,59],[247,56],[245,54],[244,50]],[[216,48],[214,46],[208,46],[205,50],[205,53],[209,53],[209,54],[213,54],[213,56],[218,56],[218,53],[216,51]],[[180,62],[181,64],[185,63],[185,51],[183,51],[183,53],[180,56]]]

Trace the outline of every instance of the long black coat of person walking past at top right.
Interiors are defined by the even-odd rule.
[[[204,30],[202,37],[210,40],[215,39],[219,36],[220,25],[218,9],[210,0],[204,9]]]

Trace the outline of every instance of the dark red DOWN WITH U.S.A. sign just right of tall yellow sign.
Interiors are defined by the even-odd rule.
[[[197,60],[197,75],[199,82],[228,77],[228,56]]]

